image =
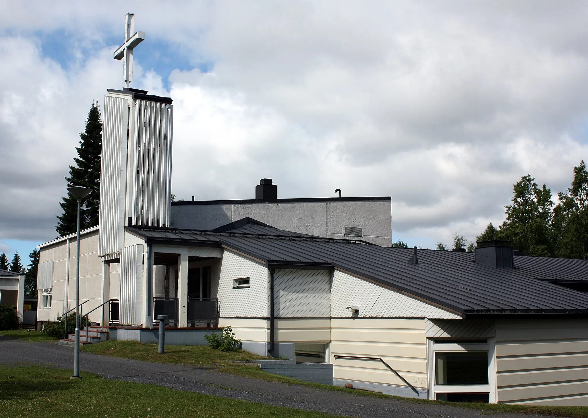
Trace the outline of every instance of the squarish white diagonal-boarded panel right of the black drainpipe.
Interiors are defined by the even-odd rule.
[[[276,317],[330,317],[330,271],[276,269],[273,288]]]

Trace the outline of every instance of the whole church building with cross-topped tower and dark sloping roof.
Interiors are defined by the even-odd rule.
[[[127,22],[125,60],[145,37]],[[250,352],[329,365],[333,385],[588,405],[585,261],[523,257],[502,241],[392,248],[390,197],[281,199],[268,178],[255,199],[172,202],[172,99],[108,90],[103,125],[80,302],[108,328],[86,341],[155,342],[168,315],[168,343],[231,326]],[[75,246],[75,234],[39,246],[39,322],[75,307]]]

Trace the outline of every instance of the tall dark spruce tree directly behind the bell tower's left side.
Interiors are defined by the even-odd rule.
[[[67,187],[83,186],[92,189],[92,193],[82,201],[81,229],[98,225],[98,204],[100,197],[100,160],[102,152],[102,122],[98,103],[93,102],[86,119],[86,130],[79,134],[79,147],[76,147],[78,158],[74,158],[76,166],[69,166]],[[78,201],[68,193],[59,203],[63,213],[58,216],[55,228],[58,234],[72,234],[77,230]]]

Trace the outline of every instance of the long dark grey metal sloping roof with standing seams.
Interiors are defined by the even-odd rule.
[[[418,250],[419,264],[415,265],[409,262],[413,250],[406,248],[295,237],[293,233],[280,237],[259,232],[162,229],[136,232],[148,240],[169,237],[178,243],[191,241],[190,245],[223,245],[260,259],[268,267],[332,266],[468,317],[588,314],[588,294],[546,282],[588,281],[588,262],[583,261],[515,256],[515,269],[498,269],[476,264],[470,253]]]

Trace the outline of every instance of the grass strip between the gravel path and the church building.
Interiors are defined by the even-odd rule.
[[[230,373],[232,375],[250,377],[252,379],[263,379],[268,382],[283,382],[293,385],[302,385],[315,387],[317,389],[335,390],[337,392],[347,392],[358,396],[372,396],[387,399],[396,399],[407,403],[436,403],[450,404],[451,406],[463,407],[466,409],[476,409],[491,414],[493,412],[518,412],[549,414],[553,416],[566,418],[588,418],[588,407],[583,406],[527,406],[527,405],[507,405],[507,404],[487,404],[487,403],[449,403],[436,400],[415,399],[400,396],[383,395],[382,393],[368,392],[365,390],[345,389],[340,386],[322,385],[321,383],[303,382],[302,380],[293,379],[292,377],[279,376],[273,373],[264,372],[257,366],[240,365],[229,363],[235,360],[258,360],[264,359],[258,355],[246,352],[245,350],[235,350],[231,352],[222,352],[212,350],[208,346],[165,346],[165,354],[159,355],[156,344],[141,344],[136,341],[106,341],[97,344],[84,346],[83,351],[101,355],[109,355],[133,360],[143,360],[156,363],[184,363],[198,365],[213,365],[219,372]]]

